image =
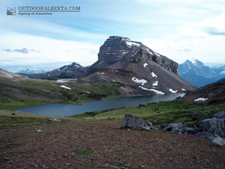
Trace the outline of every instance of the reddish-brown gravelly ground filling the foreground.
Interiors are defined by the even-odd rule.
[[[195,136],[122,130],[121,124],[108,120],[1,129],[0,168],[225,168],[225,147]]]

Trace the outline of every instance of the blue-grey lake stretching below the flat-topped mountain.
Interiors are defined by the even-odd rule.
[[[16,110],[39,115],[65,117],[99,110],[118,109],[123,107],[137,107],[140,104],[147,105],[148,103],[153,102],[174,100],[177,97],[183,97],[184,95],[184,93],[176,93],[170,95],[154,95],[148,97],[121,97],[84,103],[83,105],[51,104],[20,108]]]

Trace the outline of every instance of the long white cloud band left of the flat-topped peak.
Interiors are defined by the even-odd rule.
[[[84,50],[80,50],[81,48]],[[85,65],[92,64],[97,61],[96,53],[99,50],[99,46],[86,42],[55,40],[45,37],[10,33],[1,35],[0,49],[20,49],[19,51],[17,50],[17,52],[1,50],[1,65],[38,65],[43,63],[58,64],[61,62],[61,66],[63,66],[63,63],[71,62],[83,63]],[[24,49],[27,51],[26,54],[24,54]],[[31,52],[28,53],[28,51]]]

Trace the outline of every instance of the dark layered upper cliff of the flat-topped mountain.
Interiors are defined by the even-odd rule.
[[[166,70],[178,74],[178,64],[176,62],[154,52],[141,42],[132,41],[129,38],[119,36],[110,36],[100,47],[97,63],[104,61],[108,64],[112,64],[119,60],[136,63],[152,61]]]

